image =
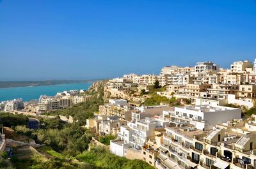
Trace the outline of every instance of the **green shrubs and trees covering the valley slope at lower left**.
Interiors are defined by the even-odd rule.
[[[94,136],[84,128],[86,119],[93,117],[98,112],[99,105],[103,101],[103,84],[97,90],[91,88],[86,94],[92,95],[90,101],[79,103],[65,110],[49,112],[54,115],[72,115],[75,121],[72,124],[65,123],[60,117],[54,119],[40,118],[40,129],[28,128],[28,117],[25,115],[0,114],[1,122],[12,127],[18,135],[28,136],[36,143],[44,144],[38,149],[20,151],[19,147],[13,147],[14,154],[10,160],[0,158],[1,168],[17,169],[85,169],[85,168],[152,168],[140,160],[128,160],[111,154],[100,148],[87,151],[90,141]],[[113,136],[100,137],[102,143],[109,143]],[[31,151],[31,152],[29,152]],[[3,166],[3,167],[2,167]]]

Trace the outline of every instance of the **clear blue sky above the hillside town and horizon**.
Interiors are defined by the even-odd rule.
[[[255,0],[0,0],[0,80],[159,73],[256,57]]]

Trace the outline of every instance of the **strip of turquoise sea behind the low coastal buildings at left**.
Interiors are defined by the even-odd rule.
[[[88,89],[92,83],[42,85],[33,87],[10,87],[0,89],[0,101],[22,98],[23,101],[38,99],[40,95],[55,96],[57,92],[72,89]]]

